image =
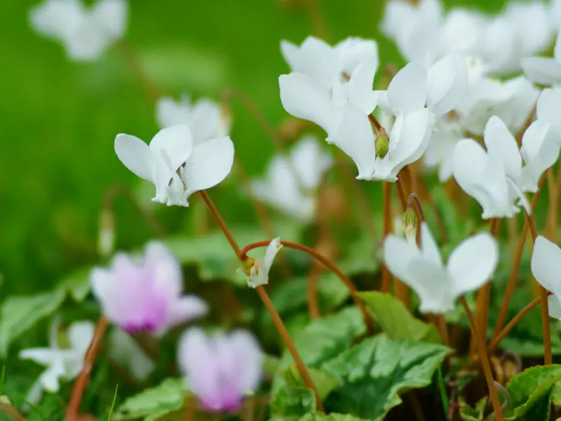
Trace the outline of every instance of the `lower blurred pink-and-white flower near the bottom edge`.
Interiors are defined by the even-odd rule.
[[[177,353],[182,373],[205,410],[238,410],[243,396],[259,386],[262,353],[245,330],[207,336],[191,328],[180,339]]]

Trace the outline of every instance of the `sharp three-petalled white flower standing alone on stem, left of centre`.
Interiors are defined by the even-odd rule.
[[[152,200],[168,206],[189,206],[191,194],[222,182],[234,164],[229,136],[195,144],[186,124],[163,128],[150,145],[119,134],[115,152],[130,171],[156,185]]]

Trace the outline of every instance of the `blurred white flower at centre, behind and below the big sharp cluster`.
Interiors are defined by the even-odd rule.
[[[255,196],[302,222],[316,216],[317,189],[332,166],[329,153],[318,140],[305,136],[292,147],[290,155],[277,154],[263,180],[252,182]]]

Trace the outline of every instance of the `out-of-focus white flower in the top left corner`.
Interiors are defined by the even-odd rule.
[[[57,39],[69,58],[97,60],[126,31],[125,0],[99,0],[86,7],[81,0],[46,0],[32,8],[30,22],[43,36]]]

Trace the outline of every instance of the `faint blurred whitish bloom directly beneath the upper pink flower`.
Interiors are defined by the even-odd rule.
[[[137,342],[120,328],[112,328],[107,341],[107,354],[137,380],[146,380],[156,368],[156,364],[144,354]]]

